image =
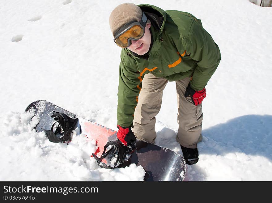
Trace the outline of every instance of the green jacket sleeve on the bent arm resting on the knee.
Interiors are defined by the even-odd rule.
[[[221,59],[220,50],[210,34],[202,27],[201,21],[194,19],[186,37],[185,49],[190,57],[197,61],[190,86],[202,90],[214,74]]]

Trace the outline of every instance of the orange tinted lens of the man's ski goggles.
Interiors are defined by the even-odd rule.
[[[115,39],[115,43],[121,48],[127,48],[129,46],[128,40],[130,38],[138,40],[142,38],[144,30],[139,25],[134,25],[129,30],[121,34]]]

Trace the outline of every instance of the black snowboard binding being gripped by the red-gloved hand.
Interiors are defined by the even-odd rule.
[[[108,146],[112,146],[108,151],[106,149]],[[118,161],[120,164],[124,163],[128,159],[127,155],[132,154],[135,150],[135,146],[124,146],[118,139],[116,141],[109,141],[104,146],[104,151],[99,158],[96,154],[92,154],[93,158],[96,159],[98,165],[101,168],[107,168],[107,169],[113,169],[116,168],[118,165]],[[116,158],[116,161],[114,164],[106,164],[102,160],[106,159],[107,162],[111,162],[111,160],[114,160]],[[113,165],[113,166],[112,166]]]

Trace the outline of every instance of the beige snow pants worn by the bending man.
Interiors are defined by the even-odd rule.
[[[177,121],[179,124],[176,141],[182,146],[196,148],[202,140],[202,105],[195,106],[191,97],[184,97],[190,78],[176,81],[178,102]],[[138,104],[134,112],[132,128],[138,139],[154,143],[156,138],[155,116],[162,104],[163,90],[168,80],[157,78],[153,74],[146,74],[142,80],[142,90],[138,97]]]

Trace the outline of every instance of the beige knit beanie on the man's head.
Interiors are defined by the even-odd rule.
[[[120,27],[133,20],[140,21],[141,17],[142,10],[134,3],[122,3],[117,6],[109,16],[109,26],[113,36]]]

